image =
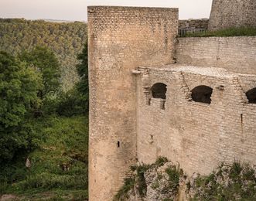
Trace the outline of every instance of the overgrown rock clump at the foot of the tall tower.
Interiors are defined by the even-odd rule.
[[[163,168],[162,173],[158,171],[158,169],[161,168]],[[179,189],[179,178],[183,175],[183,170],[176,167],[176,165],[171,165],[167,158],[158,158],[152,165],[132,166],[131,171],[133,172],[133,175],[125,179],[124,185],[118,191],[114,200],[131,199],[131,196],[147,200],[148,194],[150,193],[147,192],[148,186],[150,186],[151,189],[154,189],[155,192],[160,189],[159,192],[156,192],[155,194],[161,194],[162,192],[162,195],[176,195]],[[159,183],[163,181],[166,185],[160,187]],[[161,199],[160,197],[155,199],[166,199],[168,198],[166,195],[162,196]]]

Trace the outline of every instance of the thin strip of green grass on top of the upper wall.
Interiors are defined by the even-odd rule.
[[[186,37],[228,37],[228,36],[256,36],[256,28],[241,27],[221,29],[217,31],[187,33]]]

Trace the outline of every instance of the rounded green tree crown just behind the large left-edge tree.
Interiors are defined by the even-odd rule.
[[[40,99],[43,100],[60,90],[60,63],[53,51],[43,46],[36,46],[30,52],[20,53],[19,59],[29,63],[29,66],[42,74],[43,88],[38,92]]]

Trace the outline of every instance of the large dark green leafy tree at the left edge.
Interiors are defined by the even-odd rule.
[[[32,131],[23,124],[36,95],[40,78],[26,63],[0,52],[0,162],[32,146]]]

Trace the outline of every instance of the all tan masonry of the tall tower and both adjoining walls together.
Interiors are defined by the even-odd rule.
[[[214,3],[214,2],[213,2]],[[88,7],[89,199],[136,162],[256,162],[256,37],[177,38],[178,9]]]

